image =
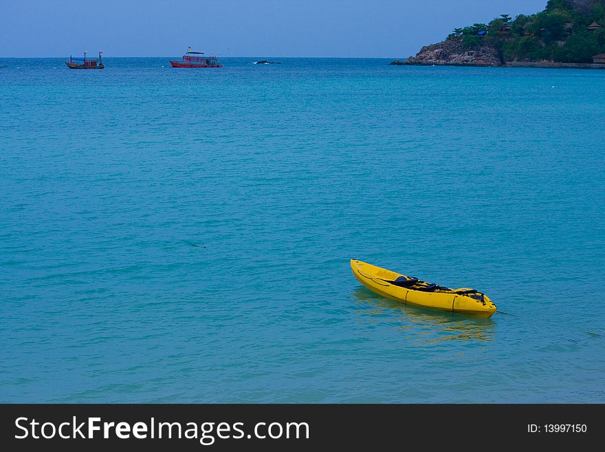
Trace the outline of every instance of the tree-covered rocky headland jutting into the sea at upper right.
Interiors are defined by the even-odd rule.
[[[594,67],[605,69],[605,0],[549,0],[542,12],[456,28],[391,65]]]

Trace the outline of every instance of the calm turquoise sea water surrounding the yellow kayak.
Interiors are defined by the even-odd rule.
[[[0,60],[0,402],[605,402],[605,71],[222,60]]]

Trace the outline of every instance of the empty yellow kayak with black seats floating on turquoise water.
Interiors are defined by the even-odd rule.
[[[370,263],[351,259],[353,275],[366,288],[383,297],[406,305],[441,311],[461,312],[478,317],[491,317],[496,305],[487,295],[470,288],[450,289],[426,283],[415,277],[399,275]]]

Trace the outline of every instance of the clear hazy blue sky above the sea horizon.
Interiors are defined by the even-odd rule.
[[[0,56],[406,57],[547,0],[0,0]]]

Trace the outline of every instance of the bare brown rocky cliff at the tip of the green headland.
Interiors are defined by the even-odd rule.
[[[481,44],[467,49],[461,39],[451,38],[422,47],[416,56],[406,60],[406,64],[499,66],[502,59],[493,45]]]

